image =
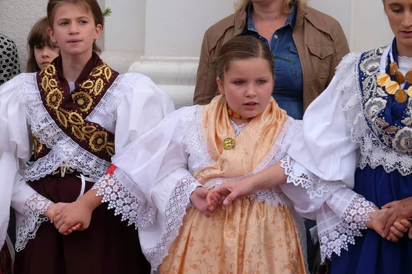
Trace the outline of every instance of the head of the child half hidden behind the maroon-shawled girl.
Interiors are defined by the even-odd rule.
[[[47,18],[44,17],[37,21],[30,30],[27,37],[27,48],[29,49],[27,73],[41,71],[58,56],[58,46],[52,42],[47,34],[48,27]]]

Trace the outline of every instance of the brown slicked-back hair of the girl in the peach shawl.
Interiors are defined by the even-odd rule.
[[[275,61],[271,49],[262,40],[253,36],[236,36],[220,48],[216,60],[216,75],[223,80],[232,61],[249,58],[266,60],[273,77],[275,77]]]

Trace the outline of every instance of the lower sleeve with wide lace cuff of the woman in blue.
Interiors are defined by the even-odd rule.
[[[354,245],[355,236],[362,236],[366,229],[368,213],[374,204],[356,194],[342,182],[327,182],[295,162],[290,156],[282,160],[288,175],[288,184],[282,186],[284,193],[295,203],[302,216],[317,221],[317,235],[321,244],[321,260],[341,254],[347,244]]]

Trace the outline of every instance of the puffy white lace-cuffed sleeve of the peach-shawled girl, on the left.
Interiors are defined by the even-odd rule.
[[[93,186],[109,208],[122,214],[122,220],[139,227],[141,248],[153,270],[179,232],[191,193],[201,186],[187,170],[185,145],[185,125],[194,123],[196,108],[176,110],[117,150],[116,169]]]

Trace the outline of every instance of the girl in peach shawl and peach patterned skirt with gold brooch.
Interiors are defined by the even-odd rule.
[[[153,272],[306,273],[304,223],[279,188],[256,192],[227,210],[217,203],[208,207],[205,199],[209,188],[284,157],[299,122],[271,99],[273,69],[270,49],[257,38],[227,42],[218,58],[222,96],[174,112],[117,151],[117,168],[94,186],[99,197],[89,192],[77,208],[63,208],[54,219],[57,227],[89,223],[103,201],[139,226]]]

